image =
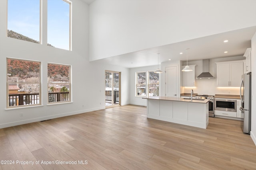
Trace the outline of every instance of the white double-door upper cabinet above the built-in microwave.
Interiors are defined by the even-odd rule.
[[[241,76],[244,74],[244,60],[216,64],[218,87],[240,87]]]

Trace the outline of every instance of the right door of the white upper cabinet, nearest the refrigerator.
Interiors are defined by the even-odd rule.
[[[240,87],[241,76],[244,74],[244,62],[230,63],[230,84],[232,87]]]

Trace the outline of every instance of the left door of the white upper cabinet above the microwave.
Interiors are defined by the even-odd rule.
[[[217,86],[228,87],[229,81],[229,64],[217,64]]]

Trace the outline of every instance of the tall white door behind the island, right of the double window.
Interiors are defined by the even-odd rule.
[[[178,94],[178,76],[177,66],[171,66],[165,68],[165,96],[177,97]]]

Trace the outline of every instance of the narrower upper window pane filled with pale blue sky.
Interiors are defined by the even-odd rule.
[[[70,50],[70,3],[48,0],[47,41],[49,46]]]

